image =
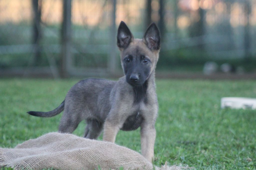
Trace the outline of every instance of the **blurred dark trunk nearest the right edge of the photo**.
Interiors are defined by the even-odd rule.
[[[244,58],[246,61],[251,59],[250,14],[251,3],[250,1],[244,1],[244,20],[247,21],[246,25],[244,26]]]

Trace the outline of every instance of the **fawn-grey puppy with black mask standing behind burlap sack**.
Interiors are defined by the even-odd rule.
[[[28,113],[52,117],[64,110],[59,132],[72,133],[82,120],[86,120],[85,138],[97,139],[104,129],[103,140],[110,142],[115,142],[120,129],[141,127],[141,152],[152,162],[158,112],[155,68],[160,50],[159,30],[152,23],[143,39],[134,39],[121,21],[117,46],[125,76],[118,81],[91,78],[79,81],[55,110]]]

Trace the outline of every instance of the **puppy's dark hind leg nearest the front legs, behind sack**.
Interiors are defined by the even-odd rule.
[[[97,139],[102,131],[102,123],[96,119],[87,119],[87,126],[84,137],[88,139]]]

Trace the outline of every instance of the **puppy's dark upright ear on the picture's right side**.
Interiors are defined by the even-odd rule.
[[[144,41],[147,47],[151,50],[159,50],[161,47],[160,43],[160,31],[158,30],[155,23],[152,23],[144,34]]]

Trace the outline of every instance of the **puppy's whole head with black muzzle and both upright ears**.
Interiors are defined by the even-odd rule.
[[[151,74],[151,68],[155,67],[156,59],[152,54],[160,49],[160,33],[155,23],[147,28],[143,39],[134,40],[131,31],[122,21],[118,28],[117,46],[122,53],[121,60],[126,81],[132,86],[144,84]]]

